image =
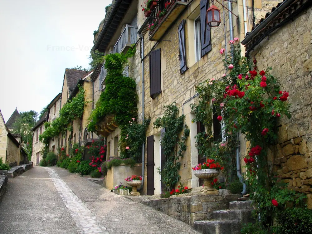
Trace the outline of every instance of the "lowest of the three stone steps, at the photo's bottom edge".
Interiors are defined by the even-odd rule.
[[[195,221],[194,228],[203,234],[240,234],[240,221]]]

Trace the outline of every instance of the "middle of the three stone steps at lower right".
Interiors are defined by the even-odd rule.
[[[211,218],[213,220],[240,221],[242,223],[254,222],[251,209],[244,210],[218,210],[213,211]]]

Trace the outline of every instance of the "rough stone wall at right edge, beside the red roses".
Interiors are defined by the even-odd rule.
[[[296,191],[309,193],[312,208],[312,9],[307,9],[255,48],[259,70],[272,66],[289,92],[291,118],[279,121],[275,170]],[[271,156],[271,158],[273,158]]]

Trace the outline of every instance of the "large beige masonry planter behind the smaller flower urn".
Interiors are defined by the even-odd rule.
[[[120,182],[127,186],[124,178],[132,175],[142,174],[142,163],[134,164],[134,167],[121,164],[118,167],[112,167],[107,171],[107,174],[103,181],[103,186],[108,189],[112,189],[116,184]]]

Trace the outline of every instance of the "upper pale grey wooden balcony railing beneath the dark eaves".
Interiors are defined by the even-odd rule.
[[[138,28],[126,25],[114,46],[114,53],[126,53],[129,47],[137,41]]]

